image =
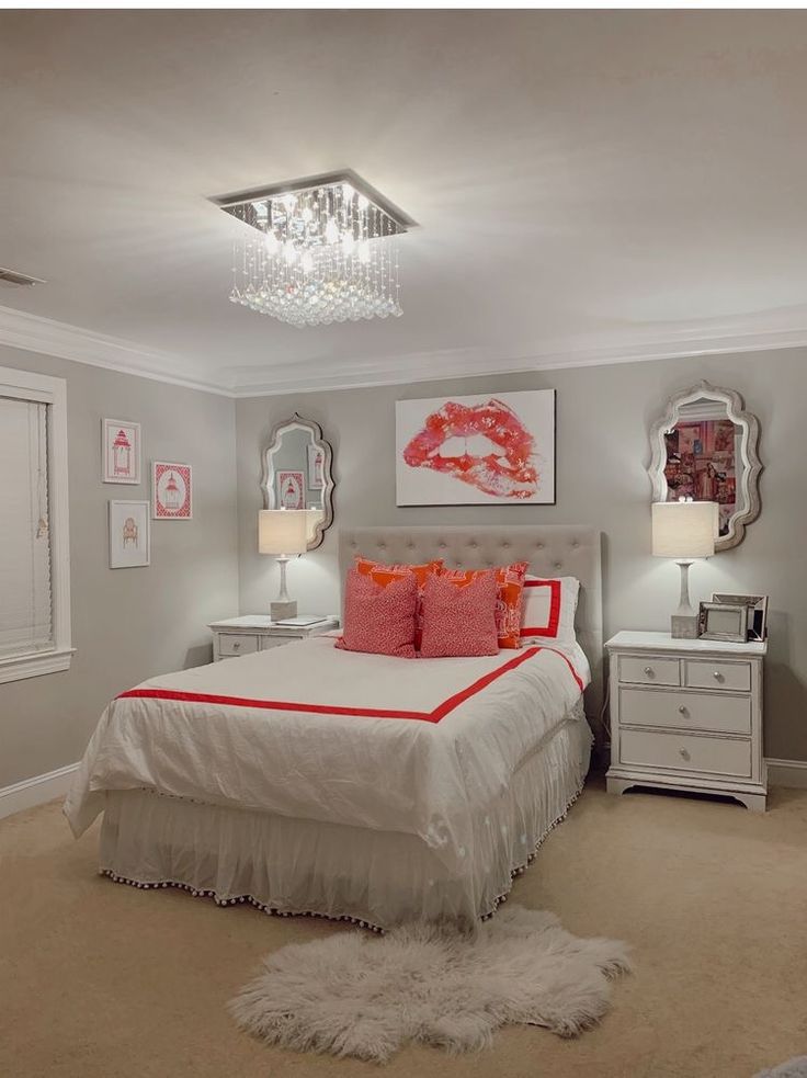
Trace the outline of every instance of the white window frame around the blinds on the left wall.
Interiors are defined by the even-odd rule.
[[[0,684],[70,668],[70,511],[67,492],[67,382],[31,371],[0,367],[0,396],[49,405],[47,410],[50,603],[54,646],[0,658]],[[2,507],[0,507],[0,512]]]

